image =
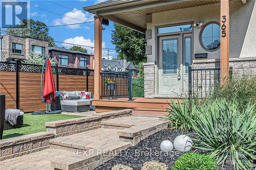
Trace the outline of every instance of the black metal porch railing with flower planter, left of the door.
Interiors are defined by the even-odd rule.
[[[129,98],[132,95],[132,71],[100,72],[101,97],[108,99]]]

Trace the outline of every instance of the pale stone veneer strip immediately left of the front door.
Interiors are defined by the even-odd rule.
[[[154,98],[155,95],[155,63],[143,63],[144,65],[144,97]]]

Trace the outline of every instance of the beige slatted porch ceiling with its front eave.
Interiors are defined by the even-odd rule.
[[[220,3],[220,0],[112,0],[83,9],[144,33],[146,14]]]

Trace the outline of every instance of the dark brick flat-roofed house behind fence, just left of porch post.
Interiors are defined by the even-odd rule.
[[[79,51],[72,51],[63,47],[50,46],[49,54],[55,57],[60,66],[66,67],[88,67],[90,68],[91,54],[82,53]]]

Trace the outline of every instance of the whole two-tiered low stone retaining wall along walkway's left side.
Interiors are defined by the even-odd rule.
[[[48,149],[50,139],[100,128],[101,121],[132,115],[132,109],[95,113],[92,116],[46,123],[48,132],[0,140],[0,161]]]

